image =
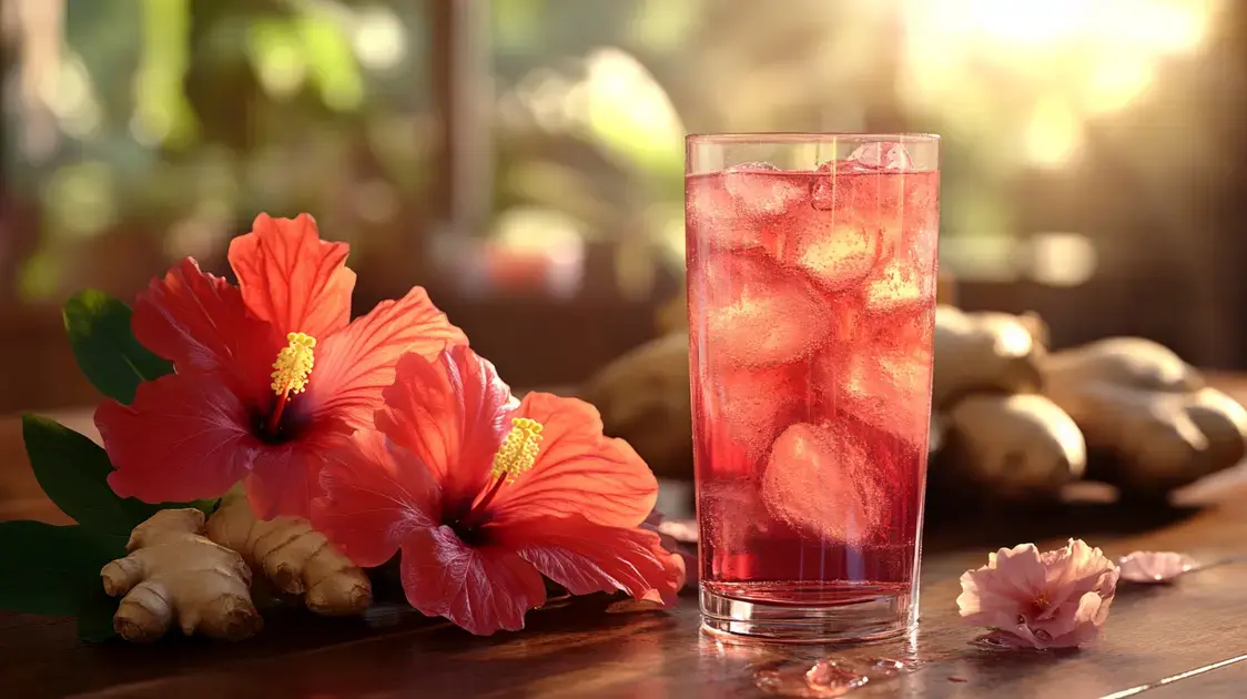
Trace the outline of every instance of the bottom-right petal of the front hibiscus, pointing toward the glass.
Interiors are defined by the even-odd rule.
[[[680,558],[645,529],[604,527],[577,514],[486,530],[571,594],[622,590],[636,599],[658,600],[683,585]]]

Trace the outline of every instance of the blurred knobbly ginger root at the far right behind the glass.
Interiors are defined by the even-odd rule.
[[[1247,454],[1247,411],[1155,342],[1105,340],[1050,354],[1040,367],[1045,393],[1079,424],[1087,448],[1111,457],[1092,476],[1129,492],[1161,494]]]

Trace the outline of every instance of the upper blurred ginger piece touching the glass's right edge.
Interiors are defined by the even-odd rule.
[[[1036,359],[1044,351],[1034,337],[1038,322],[1031,316],[936,306],[932,404],[946,408],[978,392],[1038,392]]]

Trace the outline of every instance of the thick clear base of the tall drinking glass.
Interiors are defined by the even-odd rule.
[[[914,629],[918,600],[908,589],[863,592],[833,604],[799,604],[733,598],[703,584],[702,628],[779,643],[865,643],[897,638]]]

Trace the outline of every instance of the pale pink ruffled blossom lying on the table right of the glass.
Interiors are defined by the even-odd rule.
[[[1117,567],[1099,548],[1070,539],[1040,553],[1035,544],[1003,548],[961,575],[956,604],[969,624],[988,627],[1015,648],[1072,648],[1090,643],[1109,618]]]

